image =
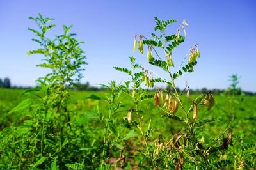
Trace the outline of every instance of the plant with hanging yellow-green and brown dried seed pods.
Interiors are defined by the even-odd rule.
[[[168,73],[170,78],[163,79],[152,70],[136,64],[134,57],[129,57],[132,63],[132,70],[115,67],[116,70],[125,72],[131,76],[131,81],[125,81],[123,91],[130,95],[134,102],[134,108],[127,113],[127,121],[138,128],[141,139],[143,140],[142,148],[138,150],[138,153],[143,155],[140,161],[145,163],[144,165],[148,165],[149,167],[147,168],[150,169],[211,169],[225,166],[228,162],[221,162],[218,157],[221,155],[222,150],[227,150],[228,145],[232,146],[231,132],[225,136],[225,132],[230,130],[230,124],[220,135],[212,139],[211,143],[204,143],[200,135],[205,125],[216,121],[214,115],[212,115],[211,119],[200,118],[200,107],[207,105],[207,111],[209,111],[214,106],[215,100],[211,91],[192,98],[189,94],[189,86],[186,84],[184,91],[187,89],[187,100],[191,104],[187,109],[181,97],[184,95],[184,91],[179,93],[175,85],[175,80],[178,77],[182,77],[184,73],[194,72],[197,59],[200,57],[198,44],[195,43],[180,62],[178,70],[173,71],[175,65],[173,58],[175,56],[172,55],[172,52],[184,42],[186,37],[185,27],[188,26],[188,23],[184,20],[175,34],[166,35],[167,27],[177,22],[177,20],[164,21],[155,17],[155,22],[156,27],[154,31],[156,33],[152,33],[152,39],[140,35],[137,40],[137,35],[134,36],[133,52],[136,52],[138,47],[139,52],[143,54],[146,46],[148,49],[148,63],[161,68],[164,72]],[[158,54],[157,51],[159,50],[157,49],[163,50],[163,57]],[[153,78],[153,75],[156,78]],[[145,82],[145,86],[148,88],[153,88],[155,82],[160,82],[171,86],[172,89],[158,88],[154,95],[145,95],[148,89],[141,88],[143,82]],[[132,91],[129,90],[130,84],[132,84]],[[147,125],[147,130],[144,131],[143,111],[139,108],[140,102],[147,99],[152,100],[152,104],[159,108],[159,111],[164,114],[164,118],[179,120],[180,123],[185,123],[186,126],[180,132],[173,134],[171,139],[167,139],[163,134],[159,135],[158,139],[150,139],[153,129],[150,125],[151,120]],[[177,112],[182,113],[182,116],[177,116]],[[223,135],[222,140],[221,135]]]

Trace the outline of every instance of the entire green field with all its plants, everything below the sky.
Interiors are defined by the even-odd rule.
[[[177,79],[200,63],[195,43],[174,67],[185,20],[167,35],[177,20],[155,17],[151,39],[135,35],[133,49],[139,55],[147,48],[152,68],[130,56],[129,68],[114,67],[129,78],[94,92],[76,90],[87,63],[72,26],[52,39],[45,33],[54,19],[40,13],[29,19],[38,25],[29,31],[40,48],[28,54],[43,54],[36,66],[51,71],[35,80],[36,88],[7,89],[10,82],[1,82],[0,169],[255,169],[256,97],[241,91],[239,76],[231,75],[218,94],[195,93],[189,82],[177,88]]]

